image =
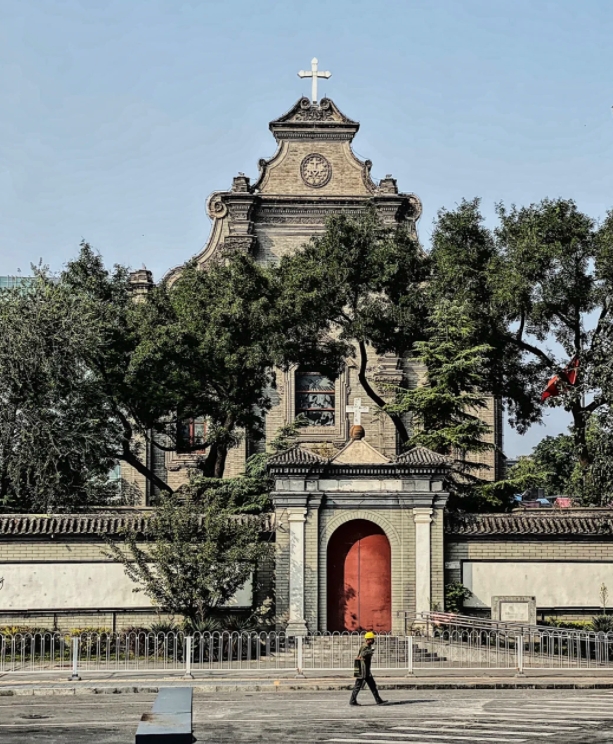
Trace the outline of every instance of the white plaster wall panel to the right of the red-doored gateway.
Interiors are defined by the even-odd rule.
[[[491,607],[498,595],[533,596],[537,607],[598,607],[602,584],[613,597],[613,563],[466,561],[462,582],[473,593],[467,607]]]

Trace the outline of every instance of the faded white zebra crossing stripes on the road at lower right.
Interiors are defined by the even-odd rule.
[[[566,693],[566,694],[565,694]],[[485,697],[485,696],[484,696]],[[613,693],[539,691],[538,696],[467,701],[465,708],[417,706],[398,720],[368,722],[351,734],[330,732],[330,744],[589,744],[613,742]],[[357,724],[357,722],[355,722]]]

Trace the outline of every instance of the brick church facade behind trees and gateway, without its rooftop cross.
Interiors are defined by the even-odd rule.
[[[351,147],[359,123],[345,116],[332,100],[323,98],[313,103],[301,98],[269,127],[277,150],[270,159],[259,161],[259,175],[254,183],[239,173],[229,190],[215,191],[207,200],[212,228],[206,245],[195,257],[200,266],[206,267],[214,257],[228,251],[250,253],[264,264],[275,262],[299,250],[312,236],[322,234],[330,215],[358,215],[369,206],[374,206],[385,224],[404,223],[417,237],[417,221],[422,212],[419,198],[400,192],[391,175],[378,182],[372,178],[372,163],[360,160]],[[176,267],[166,279],[172,282],[180,272],[181,267]],[[398,453],[394,425],[368,398],[358,381],[353,359],[347,360],[344,371],[334,381],[318,377],[316,370],[304,372],[311,376],[301,376],[301,371],[295,369],[277,373],[273,407],[266,416],[265,440],[243,441],[231,450],[227,476],[243,472],[249,454],[265,447],[266,440],[270,441],[299,412],[306,413],[310,422],[300,430],[300,442],[316,452],[332,456],[349,441],[351,425],[361,424],[368,441],[385,456]],[[423,370],[414,361],[393,355],[377,356],[371,350],[367,374],[375,386],[400,382],[416,385]],[[492,441],[501,449],[500,406],[492,399],[482,415],[491,426]],[[156,471],[172,487],[187,479],[195,462],[193,455],[155,449],[149,456]],[[500,458],[486,453],[482,459],[489,466],[485,477],[497,477]],[[143,494],[147,492],[144,480],[129,467],[123,468],[122,476],[140,485]],[[151,501],[153,496],[148,493],[144,500]]]

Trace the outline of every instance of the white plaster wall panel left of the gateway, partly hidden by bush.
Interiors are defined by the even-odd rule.
[[[0,609],[67,610],[151,607],[149,597],[117,563],[0,564]],[[249,580],[230,600],[230,607],[250,607]]]

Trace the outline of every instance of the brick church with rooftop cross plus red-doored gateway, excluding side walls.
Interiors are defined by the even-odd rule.
[[[210,237],[195,257],[199,266],[228,250],[269,264],[300,250],[322,234],[328,217],[357,216],[374,207],[386,225],[404,224],[417,239],[419,198],[402,192],[396,179],[375,180],[370,160],[360,160],[352,142],[360,125],[328,98],[300,98],[272,121],[277,151],[259,161],[259,174],[233,178],[227,191],[207,201]],[[172,282],[181,266],[166,276]],[[132,276],[146,291],[147,272]],[[369,350],[369,382],[385,398],[388,385],[417,385],[420,365]],[[316,369],[277,370],[273,407],[266,415],[265,439],[245,438],[226,461],[226,476],[244,471],[247,457],[261,451],[284,425],[302,414],[298,444],[271,462],[275,480],[275,597],[281,627],[292,634],[318,630],[404,632],[405,616],[442,607],[443,509],[446,461],[423,448],[401,455],[391,419],[383,414],[358,379],[358,362],[346,360],[330,380]],[[481,455],[485,477],[499,477],[501,410],[493,399],[482,412],[497,452]],[[409,427],[410,422],[406,422]],[[206,422],[185,424],[184,437],[205,436]],[[185,482],[198,452],[150,450],[156,472],[173,488]],[[141,476],[124,468],[132,483]],[[141,482],[143,493],[150,488]],[[155,499],[148,493],[147,502]],[[145,500],[145,499],[144,499]]]

